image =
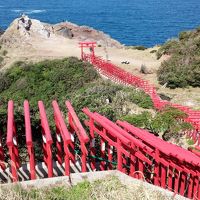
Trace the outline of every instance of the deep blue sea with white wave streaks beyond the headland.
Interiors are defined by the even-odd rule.
[[[0,27],[21,13],[88,25],[123,44],[148,47],[200,26],[200,0],[0,0]]]

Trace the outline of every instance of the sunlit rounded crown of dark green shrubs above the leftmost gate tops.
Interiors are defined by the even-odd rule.
[[[52,99],[64,97],[95,80],[98,75],[89,64],[69,58],[37,64],[18,62],[1,77],[6,87],[0,91],[6,102],[9,98],[17,102],[27,98],[35,105],[38,100],[49,104]]]

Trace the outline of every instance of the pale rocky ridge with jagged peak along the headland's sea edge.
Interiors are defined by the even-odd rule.
[[[78,26],[70,22],[51,25],[30,19],[26,15],[22,15],[12,22],[2,35],[0,42],[7,47],[16,47],[22,44],[31,44],[31,40],[56,39],[56,37],[78,41],[96,41],[98,45],[107,47],[123,47],[107,34],[87,26]]]

